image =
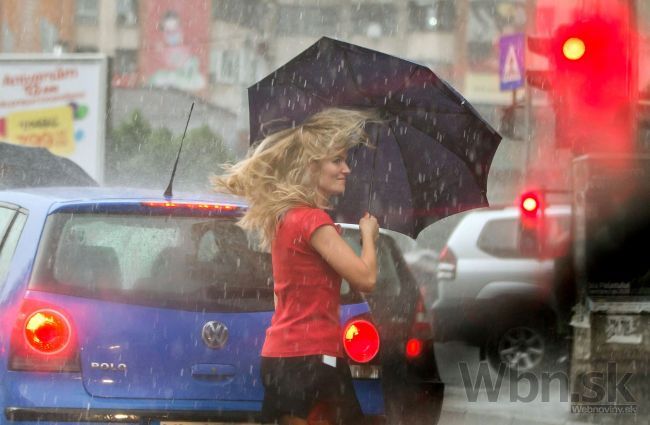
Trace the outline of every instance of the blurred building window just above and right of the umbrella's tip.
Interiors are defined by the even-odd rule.
[[[358,3],[352,6],[352,30],[366,37],[390,37],[397,32],[397,8],[386,3]]]

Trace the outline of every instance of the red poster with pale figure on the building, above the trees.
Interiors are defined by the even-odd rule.
[[[156,87],[201,92],[207,88],[210,2],[159,0],[143,7],[141,68]]]

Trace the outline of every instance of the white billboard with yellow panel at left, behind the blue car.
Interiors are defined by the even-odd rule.
[[[107,59],[0,55],[0,140],[43,147],[104,177]]]

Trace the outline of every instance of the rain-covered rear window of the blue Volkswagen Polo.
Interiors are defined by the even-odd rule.
[[[30,287],[188,310],[272,310],[271,257],[255,246],[229,218],[58,213]]]

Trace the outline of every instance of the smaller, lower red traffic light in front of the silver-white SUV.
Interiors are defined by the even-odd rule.
[[[521,195],[519,200],[519,250],[523,255],[539,257],[543,251],[544,196],[539,191]]]

